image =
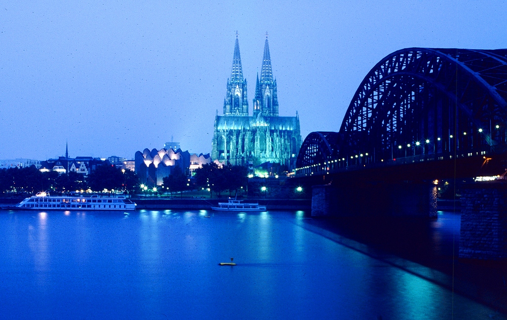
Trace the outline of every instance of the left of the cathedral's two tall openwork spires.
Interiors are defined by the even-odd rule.
[[[243,68],[241,67],[238,31],[236,31],[236,43],[234,44],[231,78],[227,79],[224,116],[248,116],[246,79],[243,78]]]

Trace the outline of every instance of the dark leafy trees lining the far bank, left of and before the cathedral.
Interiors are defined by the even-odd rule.
[[[191,190],[207,190],[221,195],[240,193],[246,190],[248,170],[244,166],[205,164],[195,171],[193,177],[175,166],[169,176],[163,178],[162,193],[183,194]],[[138,176],[130,170],[122,170],[111,164],[102,164],[84,176],[70,171],[58,174],[56,171],[41,172],[35,166],[0,169],[0,194],[34,194],[37,192],[70,193],[81,190],[111,192],[113,190],[134,195],[142,192]]]

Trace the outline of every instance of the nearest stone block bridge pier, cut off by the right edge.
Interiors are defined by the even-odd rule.
[[[507,258],[507,183],[504,181],[463,187],[459,257]]]

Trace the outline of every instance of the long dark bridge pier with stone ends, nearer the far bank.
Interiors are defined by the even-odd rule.
[[[379,183],[312,187],[313,217],[437,217],[437,187],[429,183]]]

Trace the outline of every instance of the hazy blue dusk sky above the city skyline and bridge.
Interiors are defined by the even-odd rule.
[[[0,159],[209,153],[236,30],[251,115],[266,31],[280,116],[338,131],[408,47],[507,48],[506,1],[23,1],[0,7]]]

